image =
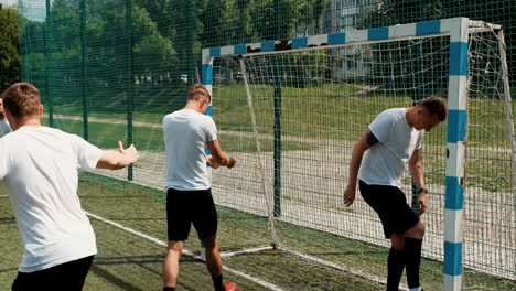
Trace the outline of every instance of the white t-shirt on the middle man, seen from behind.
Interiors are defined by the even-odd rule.
[[[211,187],[206,166],[206,146],[217,139],[209,116],[182,109],[163,118],[166,155],[166,188],[180,191]]]

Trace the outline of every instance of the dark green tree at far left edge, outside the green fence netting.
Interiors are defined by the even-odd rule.
[[[0,3],[0,91],[21,79],[18,11]]]

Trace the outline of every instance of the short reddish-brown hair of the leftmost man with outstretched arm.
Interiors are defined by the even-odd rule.
[[[1,96],[3,108],[14,118],[33,116],[40,109],[40,91],[29,83],[17,83],[6,89]]]

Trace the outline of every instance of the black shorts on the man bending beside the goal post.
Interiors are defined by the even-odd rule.
[[[407,204],[404,192],[398,187],[367,185],[359,181],[359,188],[362,197],[378,214],[386,238],[390,238],[393,233],[404,234],[419,222],[419,217]]]

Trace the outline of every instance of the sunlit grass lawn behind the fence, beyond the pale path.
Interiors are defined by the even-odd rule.
[[[143,88],[137,93],[139,105],[133,112],[133,121],[160,125],[165,114],[180,109],[184,105],[186,88]],[[383,110],[393,107],[410,107],[409,96],[384,96],[361,94],[361,88],[353,85],[320,84],[305,88],[283,87],[281,89],[281,133],[283,150],[311,150],[313,147],[291,142],[291,138],[320,140],[343,140],[355,142],[372,120]],[[123,96],[115,93],[95,93],[89,116],[112,120],[126,120]],[[268,137],[275,131],[273,87],[264,85],[252,89],[254,107],[258,131]],[[162,96],[165,103],[158,103]],[[252,131],[246,90],[241,84],[217,85],[213,88],[214,119],[221,132]],[[171,100],[166,99],[168,97]],[[144,100],[154,100],[147,104]],[[514,107],[514,106],[513,106]],[[505,103],[498,99],[469,100],[469,128],[466,175],[469,186],[481,187],[491,192],[507,192],[512,188],[510,154],[507,133]],[[56,114],[82,116],[82,103],[72,101],[54,107]],[[514,110],[514,108],[513,108]],[[80,121],[55,119],[56,127],[69,132],[83,134]],[[116,147],[118,139],[127,140],[127,127],[89,122],[89,140],[100,147]],[[146,151],[163,151],[161,129],[135,127],[136,146]],[[252,152],[255,146],[251,136],[238,139],[221,134],[223,147],[228,152]],[[272,151],[272,141],[260,140],[264,151]],[[424,134],[423,159],[428,183],[444,184],[442,179],[445,162],[447,125],[441,123]],[[428,147],[434,149],[429,149]],[[428,153],[431,152],[430,157]]]

